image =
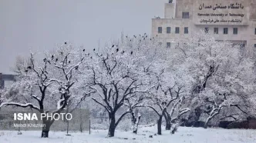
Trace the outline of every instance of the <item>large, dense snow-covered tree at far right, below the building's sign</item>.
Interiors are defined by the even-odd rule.
[[[189,38],[177,40],[173,55],[180,59],[187,71],[197,81],[191,101],[197,102],[196,110],[209,114],[208,122],[224,107],[246,105],[244,99],[251,93],[251,62],[241,56],[241,48],[230,42],[218,42],[209,34],[197,32]],[[203,109],[202,109],[203,108]]]

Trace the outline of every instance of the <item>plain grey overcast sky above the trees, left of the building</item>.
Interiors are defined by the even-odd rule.
[[[125,35],[151,32],[167,0],[0,0],[0,72],[18,55],[64,42],[93,49]]]

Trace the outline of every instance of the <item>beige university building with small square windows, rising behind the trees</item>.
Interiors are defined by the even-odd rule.
[[[256,0],[176,0],[164,18],[152,19],[152,35],[170,47],[174,38],[204,30],[218,41],[256,48]]]

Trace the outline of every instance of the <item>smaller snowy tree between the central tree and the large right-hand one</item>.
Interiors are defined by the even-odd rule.
[[[186,71],[174,67],[171,68],[172,71],[163,71],[157,75],[158,85],[151,90],[150,101],[147,105],[159,116],[157,120],[158,135],[161,135],[163,117],[166,119],[166,129],[170,130],[175,125],[177,128],[181,115],[190,111],[190,108],[185,107],[184,99],[189,97],[193,79],[186,74]]]

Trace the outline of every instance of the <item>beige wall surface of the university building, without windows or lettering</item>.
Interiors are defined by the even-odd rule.
[[[217,8],[213,9],[214,5],[227,5],[231,6],[239,4],[239,8]],[[211,10],[204,9],[200,10],[199,6],[212,6]],[[240,5],[241,4],[241,5]],[[256,0],[177,0],[176,8],[175,4],[165,5],[165,18],[153,18],[152,19],[152,36],[158,37],[161,42],[171,42],[174,38],[186,38],[184,35],[184,27],[189,28],[189,32],[204,30],[204,28],[209,28],[209,32],[214,34],[214,28],[219,28],[219,34],[217,35],[217,40],[227,40],[234,42],[245,42],[248,46],[253,47],[256,44],[256,35],[254,34],[256,28]],[[241,8],[243,6],[243,8]],[[173,16],[173,10],[175,10],[175,18]],[[183,19],[182,12],[190,12],[190,18]],[[200,13],[235,13],[243,14],[244,17],[239,16],[227,16],[226,19],[238,19],[241,22],[232,22],[231,24],[224,23],[200,23],[201,19],[209,19],[210,17],[197,16]],[[228,14],[229,15],[229,14]],[[218,17],[217,17],[218,18]],[[214,21],[216,18],[214,18]],[[162,27],[162,34],[158,34],[157,28]],[[167,34],[167,27],[171,27],[171,34]],[[175,27],[180,27],[180,34],[174,34]],[[228,34],[224,35],[224,28],[228,28]],[[233,34],[233,28],[238,28],[238,34]]]

